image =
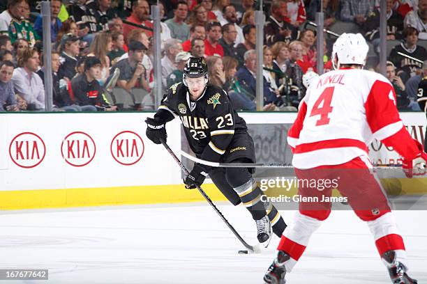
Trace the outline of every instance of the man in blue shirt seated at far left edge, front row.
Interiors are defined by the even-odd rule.
[[[12,62],[0,61],[0,112],[19,111],[12,82],[14,69]]]

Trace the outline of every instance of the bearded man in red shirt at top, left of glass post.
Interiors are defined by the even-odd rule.
[[[144,32],[147,33],[147,36],[153,36],[153,24],[149,21],[150,15],[150,6],[146,0],[137,0],[132,2],[132,14],[126,19],[126,21],[133,24],[138,24],[140,26],[145,26],[148,29],[144,29]],[[130,24],[123,24],[123,35],[125,40],[128,40],[128,34],[133,29],[138,29],[135,26],[130,26]],[[148,45],[147,45],[148,46]]]

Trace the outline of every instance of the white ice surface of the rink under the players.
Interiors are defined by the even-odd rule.
[[[244,207],[218,203],[250,244]],[[281,211],[290,223],[294,212]],[[427,283],[427,211],[398,211],[410,275]],[[207,203],[1,212],[0,268],[49,269],[49,281],[0,283],[263,283],[278,237],[260,254],[244,249]],[[287,283],[391,283],[368,227],[332,212]]]

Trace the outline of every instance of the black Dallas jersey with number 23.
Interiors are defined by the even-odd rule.
[[[154,119],[166,123],[175,116],[182,122],[188,144],[197,157],[220,161],[227,152],[253,158],[253,141],[245,120],[234,111],[223,89],[207,85],[197,102],[190,102],[188,88],[174,84],[163,97]],[[235,154],[234,154],[235,155]],[[233,156],[234,156],[233,155]]]

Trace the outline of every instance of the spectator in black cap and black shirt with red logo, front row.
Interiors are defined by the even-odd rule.
[[[98,58],[90,56],[84,60],[84,74],[79,74],[71,80],[70,97],[79,106],[93,105],[99,111],[117,111],[111,106],[103,95],[97,77],[100,75],[101,62]]]

